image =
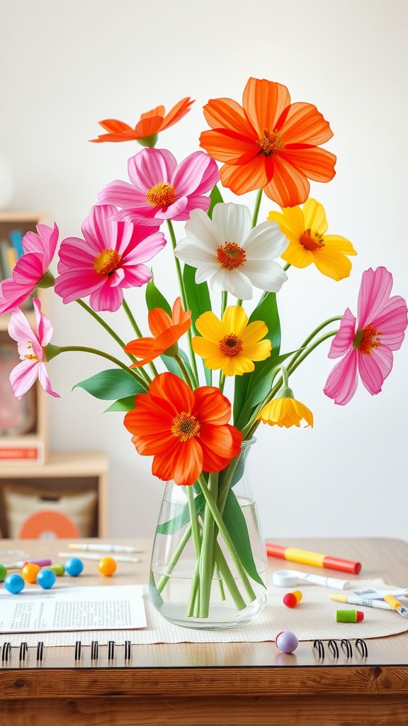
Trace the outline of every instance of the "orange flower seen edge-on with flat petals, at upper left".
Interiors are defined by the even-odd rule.
[[[164,115],[164,106],[152,108],[151,111],[142,113],[140,121],[136,123],[134,129],[116,118],[106,118],[105,121],[99,121],[99,126],[102,126],[102,129],[105,129],[108,133],[101,134],[97,139],[91,139],[91,141],[95,143],[138,141],[142,146],[154,146],[159,131],[164,131],[164,129],[168,129],[169,126],[173,126],[174,123],[180,121],[189,112],[192,103],[194,101],[189,97],[183,98],[176,103],[166,116]],[[152,142],[150,142],[150,139],[152,139]]]

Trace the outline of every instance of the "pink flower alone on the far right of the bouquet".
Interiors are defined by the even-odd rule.
[[[329,358],[344,356],[330,373],[326,396],[343,406],[356,393],[358,373],[372,395],[380,393],[393,367],[393,353],[401,347],[407,327],[407,303],[390,298],[393,277],[385,267],[362,274],[357,320],[347,308],[332,340]]]

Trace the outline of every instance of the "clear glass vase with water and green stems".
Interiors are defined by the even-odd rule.
[[[266,605],[268,562],[247,457],[192,486],[166,484],[150,565],[150,600],[181,627],[248,624]]]

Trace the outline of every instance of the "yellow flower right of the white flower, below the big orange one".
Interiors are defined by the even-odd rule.
[[[300,207],[287,207],[280,212],[269,212],[268,219],[279,224],[289,240],[282,259],[294,267],[307,267],[312,262],[317,269],[333,280],[343,280],[351,271],[346,255],[356,255],[351,242],[338,234],[326,234],[325,208],[315,199],[308,199]]]

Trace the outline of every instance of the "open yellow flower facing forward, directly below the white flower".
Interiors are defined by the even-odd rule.
[[[268,328],[261,320],[248,325],[248,316],[242,307],[229,306],[220,320],[213,312],[197,318],[199,333],[192,339],[192,348],[205,360],[211,370],[221,369],[224,375],[242,375],[254,369],[253,361],[269,358],[270,340],[261,340]]]

